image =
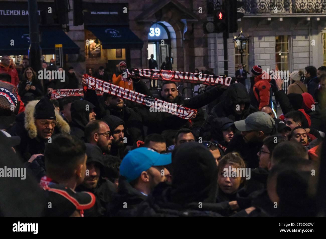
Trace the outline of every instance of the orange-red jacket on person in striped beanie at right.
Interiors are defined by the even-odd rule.
[[[262,79],[262,75],[263,74],[260,74],[255,77],[255,85],[253,87],[254,95],[259,102],[259,110],[261,110],[263,106],[268,105],[270,100],[271,78],[269,74],[266,74],[266,79]]]

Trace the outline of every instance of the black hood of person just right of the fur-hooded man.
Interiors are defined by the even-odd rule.
[[[88,106],[88,107],[87,107]],[[87,108],[88,111],[86,110]],[[71,135],[85,141],[85,126],[89,122],[89,113],[95,106],[87,100],[75,100],[70,107],[71,112]]]

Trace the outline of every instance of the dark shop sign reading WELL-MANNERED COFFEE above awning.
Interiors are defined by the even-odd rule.
[[[83,2],[86,25],[128,25],[129,9],[125,3]]]

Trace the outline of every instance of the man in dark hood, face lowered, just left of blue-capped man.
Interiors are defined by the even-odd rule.
[[[96,197],[95,205],[84,211],[86,217],[103,216],[111,201],[112,193],[116,192],[115,185],[104,178],[105,164],[101,149],[93,144],[86,145],[86,176],[81,185],[76,188],[76,192],[90,192]]]

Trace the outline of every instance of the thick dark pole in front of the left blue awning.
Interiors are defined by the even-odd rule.
[[[28,0],[29,48],[30,66],[35,72],[41,70],[41,47],[38,33],[37,0]]]

